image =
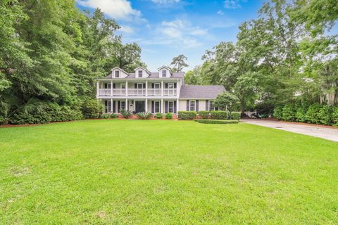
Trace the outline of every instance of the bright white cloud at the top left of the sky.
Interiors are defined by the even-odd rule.
[[[140,19],[141,12],[132,8],[127,0],[77,0],[77,4],[88,8],[100,8],[111,18],[120,20]]]

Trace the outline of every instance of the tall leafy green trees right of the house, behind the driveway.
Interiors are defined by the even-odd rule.
[[[223,84],[242,113],[337,105],[337,35],[330,34],[337,18],[336,1],[269,1],[258,18],[239,26],[236,43],[206,51],[204,63],[187,72],[185,82]]]

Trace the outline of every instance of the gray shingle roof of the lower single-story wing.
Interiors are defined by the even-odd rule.
[[[223,85],[183,85],[180,98],[214,99],[225,91]]]

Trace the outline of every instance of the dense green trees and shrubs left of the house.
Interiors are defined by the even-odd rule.
[[[95,79],[118,66],[132,72],[141,49],[120,27],[70,0],[0,3],[0,123],[75,120],[93,105]]]

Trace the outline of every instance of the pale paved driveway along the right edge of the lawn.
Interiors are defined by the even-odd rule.
[[[256,124],[263,127],[270,127],[275,129],[282,129],[284,131],[290,131],[297,134],[305,134],[309,136],[316,136],[318,138],[327,139],[338,142],[338,129],[315,127],[311,125],[292,124],[287,122],[277,122],[271,120],[250,120],[244,119],[241,122],[248,124]]]

